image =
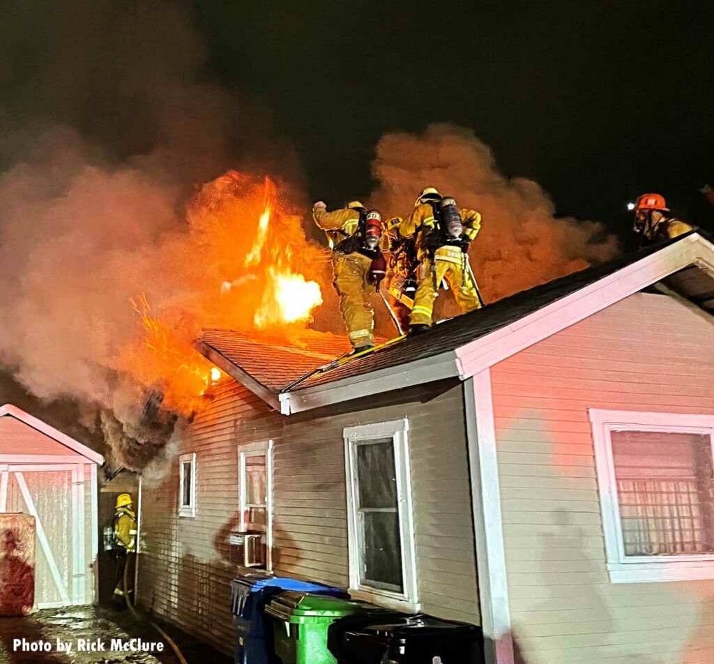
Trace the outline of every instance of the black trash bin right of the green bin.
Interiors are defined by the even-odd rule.
[[[330,625],[328,648],[339,664],[484,663],[480,627],[421,613],[341,618]]]

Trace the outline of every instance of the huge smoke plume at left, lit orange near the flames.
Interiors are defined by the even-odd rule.
[[[191,24],[161,0],[18,1],[0,22],[0,365],[46,401],[94,404],[130,468],[146,457],[146,392],[190,410],[209,371],[191,349],[201,326],[245,328],[261,305],[259,289],[221,284],[264,276],[242,264],[263,173],[281,192],[271,231],[327,281],[294,214],[306,206],[291,146],[259,102],[206,79]],[[140,314],[171,351],[146,347]],[[144,433],[154,448],[166,430]]]

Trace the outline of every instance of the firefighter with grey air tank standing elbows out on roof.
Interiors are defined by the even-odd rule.
[[[410,331],[431,326],[438,289],[446,281],[463,313],[481,308],[483,301],[468,263],[468,243],[481,228],[476,210],[456,208],[453,198],[429,187],[416,198],[414,210],[399,226],[403,238],[416,236],[419,285],[411,310]]]

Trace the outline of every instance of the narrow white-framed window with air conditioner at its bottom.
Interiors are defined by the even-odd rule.
[[[241,531],[266,533],[266,566],[271,569],[273,441],[238,447]]]

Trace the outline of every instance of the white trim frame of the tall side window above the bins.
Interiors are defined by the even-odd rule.
[[[345,469],[347,476],[347,525],[351,592],[372,597],[383,603],[401,602],[402,606],[418,610],[416,585],[416,546],[414,544],[414,513],[411,505],[411,473],[409,471],[409,421],[407,418],[376,424],[363,424],[343,430],[345,440]],[[397,480],[397,503],[401,525],[401,555],[403,567],[403,593],[372,588],[359,582],[359,547],[356,505],[356,472],[353,467],[354,443],[373,438],[392,438]]]

